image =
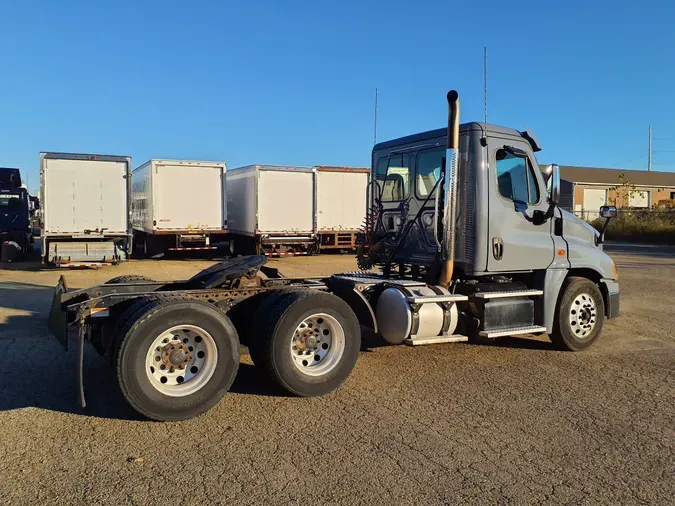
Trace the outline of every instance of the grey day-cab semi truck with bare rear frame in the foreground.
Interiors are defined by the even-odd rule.
[[[347,379],[362,327],[391,344],[543,333],[563,350],[594,343],[619,313],[602,234],[558,208],[558,168],[547,188],[531,133],[460,127],[456,92],[448,105],[447,132],[373,149],[358,251],[370,272],[291,279],[264,256],[243,256],[185,281],[123,276],[69,290],[62,277],[49,323],[64,345],[68,328],[77,330],[82,404],[85,341],[108,358],[129,404],[156,420],[216,404],[237,373],[240,343],[299,396]]]

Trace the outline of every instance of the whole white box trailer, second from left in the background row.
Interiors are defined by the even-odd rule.
[[[150,160],[132,176],[134,245],[144,256],[225,240],[225,162]]]

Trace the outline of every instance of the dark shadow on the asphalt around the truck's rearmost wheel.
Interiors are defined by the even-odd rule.
[[[120,393],[112,367],[85,347],[87,407],[79,405],[74,335],[65,351],[47,328],[53,288],[0,283],[0,411],[36,407],[100,418],[143,420]],[[10,313],[10,314],[8,314]],[[12,374],[18,367],[20,374]],[[235,394],[285,395],[263,372],[241,363],[231,388]]]

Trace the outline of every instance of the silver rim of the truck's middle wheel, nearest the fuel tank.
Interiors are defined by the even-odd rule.
[[[345,351],[345,332],[334,316],[316,313],[296,327],[290,348],[296,369],[307,376],[321,376],[340,362]]]

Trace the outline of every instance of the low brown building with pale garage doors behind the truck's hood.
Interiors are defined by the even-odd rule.
[[[675,172],[560,166],[561,205],[585,217],[600,206],[651,208],[675,200]]]

